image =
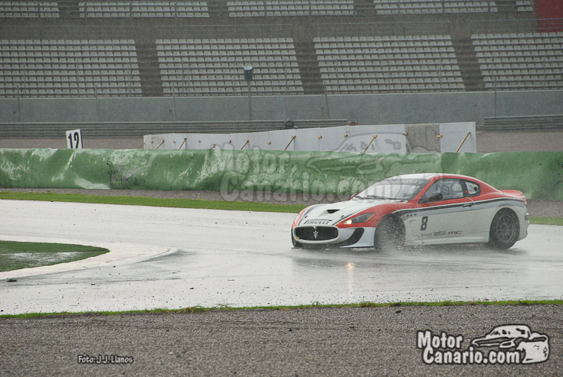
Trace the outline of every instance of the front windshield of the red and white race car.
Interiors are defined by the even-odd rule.
[[[359,199],[410,200],[415,198],[428,182],[428,179],[388,178],[369,186],[355,197]]]

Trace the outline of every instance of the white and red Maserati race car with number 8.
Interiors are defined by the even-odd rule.
[[[527,236],[529,224],[520,191],[459,174],[405,174],[350,200],[306,207],[293,220],[291,241],[295,248],[487,243],[507,249]]]

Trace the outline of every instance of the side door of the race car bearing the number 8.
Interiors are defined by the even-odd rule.
[[[463,243],[474,240],[473,200],[460,179],[439,179],[419,200],[407,220],[413,244]]]

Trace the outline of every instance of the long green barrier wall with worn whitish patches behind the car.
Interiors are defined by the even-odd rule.
[[[562,152],[385,153],[0,149],[4,188],[274,191],[348,195],[397,174],[466,174],[563,201]]]

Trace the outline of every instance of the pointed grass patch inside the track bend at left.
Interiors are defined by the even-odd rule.
[[[0,241],[0,272],[73,262],[108,251],[94,246],[65,243]]]

